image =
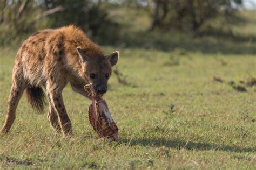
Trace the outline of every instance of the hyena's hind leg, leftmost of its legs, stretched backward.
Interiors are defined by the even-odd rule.
[[[8,100],[7,115],[4,125],[2,126],[1,132],[8,133],[11,128],[11,125],[14,123],[14,120],[16,118],[16,108],[18,106],[19,100],[21,99],[24,90],[25,83],[22,77],[22,70],[21,68],[14,69],[14,73],[12,76],[12,86]]]

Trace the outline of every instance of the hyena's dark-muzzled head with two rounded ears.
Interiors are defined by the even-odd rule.
[[[111,67],[116,65],[119,53],[113,52],[108,56],[87,56],[80,47],[77,47],[77,52],[85,79],[93,84],[98,94],[106,93],[107,81],[112,73]]]

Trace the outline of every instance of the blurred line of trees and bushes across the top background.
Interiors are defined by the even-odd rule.
[[[197,32],[209,19],[233,17],[238,5],[242,0],[0,0],[0,45],[69,24],[80,26],[96,41],[114,43],[122,25],[108,15],[124,6],[146,10],[150,30]]]

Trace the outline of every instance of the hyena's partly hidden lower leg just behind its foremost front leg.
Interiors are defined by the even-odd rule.
[[[47,118],[50,121],[53,130],[60,132],[61,128],[60,128],[60,125],[58,122],[58,115],[57,115],[57,112],[55,111],[55,108],[50,100],[50,97],[49,97],[49,112],[48,112]]]

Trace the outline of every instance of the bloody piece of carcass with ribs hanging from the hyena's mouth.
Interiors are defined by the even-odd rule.
[[[85,85],[84,89],[89,93],[92,100],[88,112],[89,121],[98,137],[106,137],[110,141],[117,141],[118,128],[102,95],[96,93],[92,84]]]

